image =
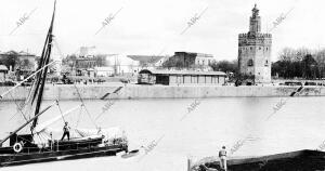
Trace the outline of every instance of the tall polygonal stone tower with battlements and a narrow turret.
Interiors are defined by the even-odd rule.
[[[253,76],[255,82],[271,81],[272,35],[261,34],[261,17],[255,4],[249,18],[249,31],[238,36],[238,68],[243,76]]]

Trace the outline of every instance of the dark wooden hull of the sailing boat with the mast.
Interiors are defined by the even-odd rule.
[[[126,150],[125,146],[116,145],[107,147],[90,147],[58,152],[0,155],[0,167],[48,162],[55,160],[92,158],[101,156],[115,156],[117,153],[122,150]]]

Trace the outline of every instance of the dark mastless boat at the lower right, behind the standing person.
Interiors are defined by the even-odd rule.
[[[221,171],[219,161],[198,162],[188,166],[188,171],[205,171],[206,168]],[[227,171],[321,171],[325,170],[325,153],[296,150],[261,157],[243,157],[227,160]]]

